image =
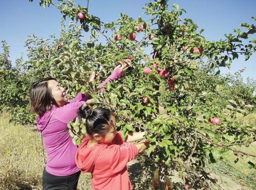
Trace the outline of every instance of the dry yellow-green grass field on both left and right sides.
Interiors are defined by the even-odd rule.
[[[255,118],[255,115],[246,118],[238,115],[239,122],[245,120],[246,123],[254,124]],[[9,120],[8,113],[0,113],[0,189],[42,189],[41,177],[45,163],[40,133],[35,126],[9,125]],[[256,155],[255,146],[256,143],[253,143],[248,148],[240,149]],[[243,155],[237,157],[230,152],[227,163],[220,160],[208,164],[207,170],[218,176],[228,176],[242,185],[241,189],[256,189],[256,170],[247,167],[248,161],[256,162],[256,159]],[[90,174],[81,174],[78,189],[92,189]]]

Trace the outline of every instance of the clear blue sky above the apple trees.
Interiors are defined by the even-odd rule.
[[[137,19],[142,15],[141,8],[153,1],[150,0],[93,0],[89,2],[89,13],[99,17],[103,22],[112,22],[120,16],[120,13],[127,14],[129,17]],[[54,3],[57,5],[58,1]],[[75,0],[76,4],[87,7],[86,0]],[[197,23],[199,30],[204,29],[202,35],[208,41],[218,41],[226,39],[224,34],[233,34],[233,29],[243,29],[238,27],[240,23],[247,22],[254,26],[252,16],[256,17],[256,1],[255,0],[176,0],[169,1],[169,10],[173,10],[173,4],[179,5],[180,9],[184,9],[186,14],[182,14],[181,18],[191,18]],[[25,41],[28,35],[36,35],[44,39],[49,35],[56,34],[58,37],[60,29],[61,14],[54,6],[47,7],[46,10],[39,6],[39,0],[30,3],[28,0],[1,0],[0,1],[0,41],[6,40],[11,47],[10,60],[15,63],[15,58],[20,57],[20,53],[24,53],[26,58]],[[146,17],[142,16],[145,20]],[[67,23],[69,20],[67,20]],[[198,31],[199,31],[198,30]],[[88,40],[89,33],[83,33],[83,41]],[[256,38],[256,34],[250,40]],[[246,42],[246,41],[243,41]],[[248,40],[247,40],[248,42]],[[2,49],[0,50],[2,52]],[[253,54],[248,61],[244,56],[240,56],[238,60],[234,60],[231,69],[221,69],[221,74],[234,72],[247,66],[242,74],[244,79],[247,77],[254,78],[256,70],[256,55]]]

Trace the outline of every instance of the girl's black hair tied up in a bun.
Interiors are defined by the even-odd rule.
[[[93,133],[104,136],[111,129],[113,123],[110,121],[111,111],[105,108],[95,108],[92,113],[89,106],[82,109],[82,106],[77,111],[79,122],[82,122],[82,118],[86,119],[86,131],[89,136],[93,136]]]

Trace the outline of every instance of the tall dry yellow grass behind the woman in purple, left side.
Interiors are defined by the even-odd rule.
[[[33,126],[9,125],[9,120],[8,113],[0,113],[0,189],[42,189],[40,133]],[[78,188],[92,189],[90,174],[81,174]]]

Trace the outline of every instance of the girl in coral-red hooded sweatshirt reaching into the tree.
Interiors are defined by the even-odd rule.
[[[132,185],[126,163],[150,145],[150,141],[134,145],[131,141],[143,138],[145,132],[130,133],[125,141],[116,131],[116,120],[110,110],[79,108],[78,118],[86,118],[88,136],[76,153],[76,164],[81,172],[92,173],[93,190],[130,190]]]

